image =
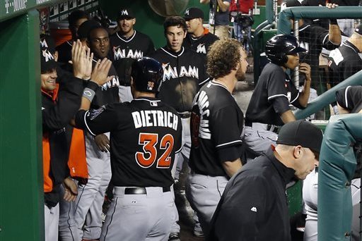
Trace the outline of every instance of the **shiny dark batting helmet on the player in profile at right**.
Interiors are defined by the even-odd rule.
[[[267,41],[265,54],[271,63],[279,66],[288,61],[288,54],[306,52],[307,49],[299,47],[298,40],[293,35],[276,35]]]

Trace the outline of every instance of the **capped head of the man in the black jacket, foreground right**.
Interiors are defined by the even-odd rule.
[[[281,156],[279,161],[293,168],[296,178],[303,180],[318,166],[322,140],[322,130],[309,121],[286,123],[276,140],[276,150]]]

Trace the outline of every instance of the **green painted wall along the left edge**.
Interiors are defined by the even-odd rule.
[[[0,240],[44,240],[39,16],[0,23]]]

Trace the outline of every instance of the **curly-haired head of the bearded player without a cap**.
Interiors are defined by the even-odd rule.
[[[220,39],[207,52],[207,73],[211,78],[221,78],[236,71],[238,80],[245,80],[247,54],[235,39]]]

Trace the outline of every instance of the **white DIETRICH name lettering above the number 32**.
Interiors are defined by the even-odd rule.
[[[134,128],[159,126],[177,130],[178,116],[169,111],[134,111],[132,118]]]

